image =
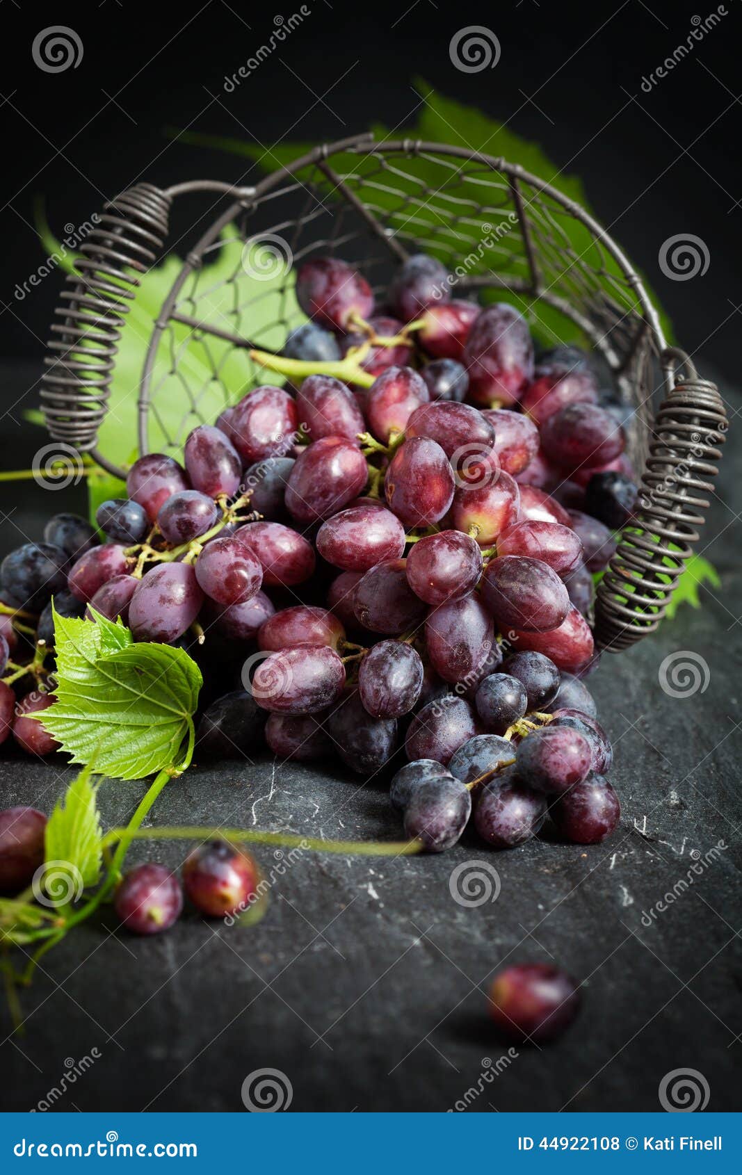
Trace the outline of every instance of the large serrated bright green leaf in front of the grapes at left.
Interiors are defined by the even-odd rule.
[[[143,779],[173,765],[193,740],[201,671],[182,649],[134,644],[129,630],[54,612],[56,703],[44,725],[72,763],[94,763],[118,779]]]

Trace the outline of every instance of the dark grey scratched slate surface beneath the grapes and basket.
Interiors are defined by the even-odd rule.
[[[39,442],[26,439],[29,455]],[[6,468],[19,459],[6,455]],[[731,1109],[742,1047],[734,464],[730,451],[708,530],[723,589],[704,591],[701,611],[683,609],[654,639],[604,658],[590,679],[623,804],[608,844],[544,839],[495,854],[470,838],[446,855],[396,860],[307,852],[289,861],[260,848],[274,884],[252,928],[190,913],[143,941],[115,934],[107,911],[42,961],[22,993],[21,1036],[9,1036],[0,1013],[4,1108],[31,1109],[68,1061],[95,1048],[100,1058],[56,1108],[241,1110],[247,1074],[273,1068],[292,1082],[296,1110],[444,1110],[467,1089],[472,1110],[653,1110],[662,1077],[693,1068],[709,1083],[709,1109]],[[20,542],[15,526],[39,537],[58,499],[81,505],[79,488],[53,505],[33,483],[4,491],[14,511],[4,551]],[[682,650],[703,658],[708,685],[671,698],[660,666]],[[48,810],[71,776],[6,751],[2,806]],[[106,824],[123,821],[142,791],[106,784]],[[161,824],[220,821],[343,839],[400,834],[383,781],[268,759],[195,766],[156,808]],[[703,861],[720,842],[729,847],[650,920],[695,854]],[[173,866],[182,855],[173,845],[158,852]],[[496,868],[501,893],[463,908],[450,874],[476,860]],[[550,958],[584,982],[580,1020],[552,1047],[497,1065],[507,1045],[488,1023],[490,976],[506,962]]]

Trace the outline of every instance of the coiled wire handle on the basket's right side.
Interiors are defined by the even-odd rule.
[[[727,412],[716,384],[701,380],[684,351],[662,360],[684,369],[654,423],[635,517],[597,588],[595,639],[607,652],[628,649],[660,624],[698,540],[709,478],[726,439]]]

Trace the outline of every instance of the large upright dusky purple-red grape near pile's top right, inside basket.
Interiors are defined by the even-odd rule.
[[[534,347],[522,314],[506,302],[486,307],[469,331],[462,362],[477,404],[517,402],[534,374]]]

